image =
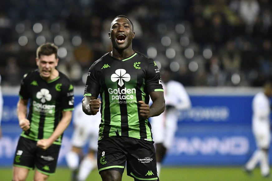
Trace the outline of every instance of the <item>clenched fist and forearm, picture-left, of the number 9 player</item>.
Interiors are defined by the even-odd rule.
[[[87,115],[95,115],[99,111],[100,104],[100,98],[96,99],[94,96],[84,96],[82,100],[82,110]]]

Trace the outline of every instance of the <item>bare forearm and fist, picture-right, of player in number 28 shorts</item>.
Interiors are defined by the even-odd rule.
[[[65,129],[69,126],[72,118],[72,111],[62,111],[62,118],[60,123],[56,127],[53,134],[48,139],[41,139],[37,142],[37,146],[46,150],[49,146],[53,144],[53,142],[63,134]]]

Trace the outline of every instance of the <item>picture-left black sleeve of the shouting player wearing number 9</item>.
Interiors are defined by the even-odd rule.
[[[100,84],[95,71],[95,63],[89,68],[87,81],[84,89],[84,96],[98,97],[100,93]]]

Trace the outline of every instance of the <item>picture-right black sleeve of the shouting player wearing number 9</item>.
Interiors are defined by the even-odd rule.
[[[149,93],[154,91],[163,92],[160,78],[160,70],[153,60],[148,62],[148,68],[146,73],[146,88]]]

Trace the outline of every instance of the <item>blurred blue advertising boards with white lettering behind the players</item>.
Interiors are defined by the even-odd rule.
[[[189,94],[190,95],[190,94]],[[178,131],[164,165],[242,165],[255,150],[251,132],[253,95],[190,95],[192,108],[180,112]],[[82,95],[75,95],[75,104]],[[16,116],[18,95],[4,94],[0,166],[12,166],[21,133]],[[64,132],[58,165],[66,165],[72,124]],[[270,154],[271,155],[271,154]],[[272,158],[272,156],[270,156]]]

